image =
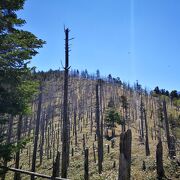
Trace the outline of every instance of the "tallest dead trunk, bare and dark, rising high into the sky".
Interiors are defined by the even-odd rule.
[[[69,119],[68,119],[68,74],[69,74],[69,29],[65,29],[65,67],[64,67],[64,103],[63,103],[63,130],[62,130],[62,165],[61,176],[67,178],[69,161]]]

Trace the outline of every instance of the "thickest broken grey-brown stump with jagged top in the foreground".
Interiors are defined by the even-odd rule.
[[[128,129],[120,135],[120,156],[118,180],[130,180],[132,133]]]

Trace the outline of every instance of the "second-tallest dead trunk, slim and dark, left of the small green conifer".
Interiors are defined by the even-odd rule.
[[[102,140],[100,132],[100,113],[99,113],[99,84],[96,84],[96,134],[98,138],[98,172],[102,172]]]

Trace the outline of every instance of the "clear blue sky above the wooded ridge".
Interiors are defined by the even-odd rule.
[[[47,42],[38,70],[61,68],[66,25],[73,69],[180,90],[180,0],[27,0],[19,15]]]

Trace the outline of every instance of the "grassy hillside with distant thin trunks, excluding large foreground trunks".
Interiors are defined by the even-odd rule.
[[[84,149],[89,149],[89,178],[90,179],[117,179],[119,169],[119,143],[122,124],[115,124],[115,128],[107,126],[106,116],[109,102],[120,114],[121,121],[125,121],[125,127],[132,131],[132,154],[131,154],[131,179],[156,179],[156,145],[158,139],[163,142],[163,164],[165,175],[168,179],[179,179],[180,169],[178,166],[180,154],[179,144],[179,116],[180,112],[170,99],[147,93],[139,84],[127,85],[115,79],[103,79],[98,81],[96,77],[80,76],[70,73],[68,93],[68,118],[69,118],[69,168],[68,178],[84,179]],[[62,154],[62,119],[63,119],[63,82],[62,71],[38,73],[41,79],[42,97],[40,111],[40,129],[38,151],[36,157],[36,172],[52,175],[53,162],[57,152]],[[103,171],[98,173],[98,138],[96,121],[96,85],[99,84],[99,112],[100,125],[103,129]],[[126,97],[127,107],[124,106],[122,96]],[[170,159],[165,128],[165,116],[162,102],[165,98],[167,115],[170,123],[170,134],[176,139],[176,157]],[[38,114],[38,96],[32,103],[32,114],[23,117],[22,139],[29,138],[29,142],[20,153],[20,167],[30,170],[32,165],[33,140]],[[142,117],[142,107],[146,110],[150,155],[146,156],[146,127]],[[178,121],[175,121],[178,119]],[[142,122],[143,126],[142,126]],[[176,122],[173,126],[172,122]],[[177,123],[178,122],[178,123]],[[13,119],[12,141],[16,141],[17,119]],[[112,147],[112,130],[115,130],[114,147]],[[142,131],[144,137],[142,137]],[[110,140],[111,139],[111,140]],[[143,162],[144,170],[143,170]],[[8,163],[13,167],[14,161]],[[60,165],[61,169],[61,165]],[[13,173],[8,172],[6,179],[13,179]],[[30,179],[27,175],[21,175],[22,179]]]

